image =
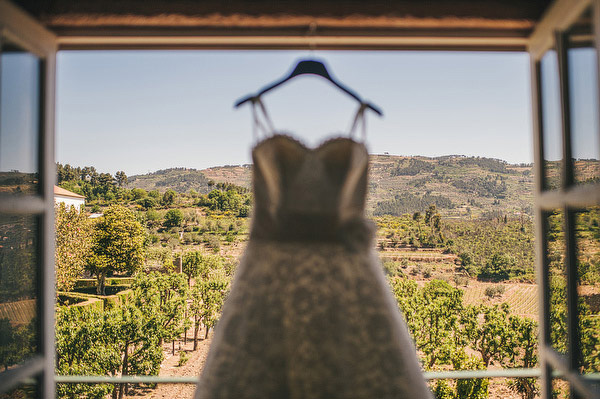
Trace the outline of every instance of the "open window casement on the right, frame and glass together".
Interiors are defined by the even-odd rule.
[[[590,381],[599,371],[592,348],[600,343],[598,309],[590,306],[590,265],[598,265],[600,238],[595,222],[600,198],[600,11],[597,2],[585,3],[569,10],[570,15],[550,13],[545,44],[532,41],[530,48],[537,104],[536,237],[541,239],[536,245],[544,398],[599,394]]]

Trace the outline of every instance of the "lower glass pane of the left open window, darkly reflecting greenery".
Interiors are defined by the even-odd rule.
[[[37,230],[33,216],[0,215],[0,375],[37,350]]]

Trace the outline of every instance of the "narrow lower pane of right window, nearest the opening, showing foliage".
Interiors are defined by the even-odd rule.
[[[567,352],[567,279],[563,213],[546,216],[547,259],[550,280],[550,341],[560,353]]]

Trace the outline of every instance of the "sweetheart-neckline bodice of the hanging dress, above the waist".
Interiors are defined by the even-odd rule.
[[[274,135],[254,148],[252,158],[253,237],[339,240],[357,224],[366,228],[369,156],[362,143],[335,138],[311,149]]]

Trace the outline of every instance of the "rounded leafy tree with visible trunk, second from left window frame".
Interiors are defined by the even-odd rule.
[[[146,232],[133,212],[112,206],[94,225],[92,252],[87,269],[98,279],[97,293],[104,295],[109,272],[132,274],[144,263]]]

